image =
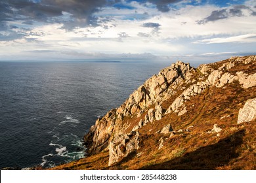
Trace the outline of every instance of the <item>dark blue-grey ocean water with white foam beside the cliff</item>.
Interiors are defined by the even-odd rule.
[[[167,65],[0,61],[0,169],[83,158],[96,119]]]

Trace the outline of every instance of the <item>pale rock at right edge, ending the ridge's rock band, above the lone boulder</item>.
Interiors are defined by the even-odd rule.
[[[247,89],[256,86],[256,73],[248,76],[243,71],[240,71],[236,75],[238,75],[238,81],[242,84],[242,88]]]

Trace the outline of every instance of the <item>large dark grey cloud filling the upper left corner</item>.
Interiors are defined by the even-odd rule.
[[[98,18],[93,13],[99,8],[116,1],[108,0],[1,0],[0,22],[22,20],[24,24],[35,22],[62,23],[65,29],[97,25]],[[64,12],[70,15],[63,18]]]

